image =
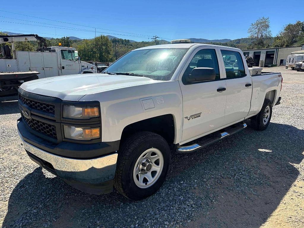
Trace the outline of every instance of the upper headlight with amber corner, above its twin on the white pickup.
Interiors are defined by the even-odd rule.
[[[74,105],[63,105],[63,117],[73,119],[88,119],[99,116],[98,107],[81,107]]]

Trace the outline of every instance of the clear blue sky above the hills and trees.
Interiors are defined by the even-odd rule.
[[[47,4],[43,1],[29,2],[15,0],[13,2],[13,7],[11,4],[2,4],[2,8],[0,10],[78,25],[97,27],[99,28],[97,29],[97,35],[112,35],[136,41],[148,41],[148,38],[154,35],[166,40],[182,38],[204,38],[210,40],[237,39],[247,37],[247,29],[250,24],[255,22],[258,17],[262,16],[270,18],[271,32],[273,36],[275,36],[285,24],[294,23],[297,20],[304,20],[303,4],[295,4],[296,7],[290,8],[286,5],[286,1],[281,0],[53,0],[47,2],[51,4]],[[90,32],[95,31],[94,28],[43,20],[8,12],[0,11],[0,31],[36,33],[40,36],[57,38],[60,38],[61,36],[93,38],[95,36],[94,32]],[[40,26],[24,24],[35,24]],[[56,29],[52,28],[56,26]],[[70,27],[71,29],[59,29],[60,26]],[[78,29],[90,31],[77,31]],[[119,32],[103,29],[116,30]],[[124,36],[117,34],[124,34]]]

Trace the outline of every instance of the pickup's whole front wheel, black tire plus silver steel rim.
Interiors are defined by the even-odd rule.
[[[152,132],[130,136],[119,149],[114,186],[132,200],[153,195],[163,184],[170,166],[167,141]]]

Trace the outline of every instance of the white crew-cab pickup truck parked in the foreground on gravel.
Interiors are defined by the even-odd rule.
[[[281,88],[281,73],[250,76],[239,49],[156,45],[102,74],[23,83],[17,126],[29,157],[68,184],[140,200],[163,184],[171,151],[194,152],[248,118],[265,130]]]

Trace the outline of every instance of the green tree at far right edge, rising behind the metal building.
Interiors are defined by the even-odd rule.
[[[290,47],[304,42],[304,22],[297,21],[283,27],[275,37],[274,47]]]

